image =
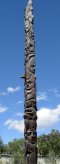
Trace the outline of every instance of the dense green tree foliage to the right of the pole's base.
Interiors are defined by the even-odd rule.
[[[54,156],[60,157],[60,132],[52,130],[50,134],[43,134],[37,139],[38,151],[42,156],[49,156],[53,153]]]

